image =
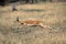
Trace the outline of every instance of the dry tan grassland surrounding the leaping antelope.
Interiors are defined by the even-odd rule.
[[[0,7],[0,44],[66,44],[66,2]],[[44,25],[21,25],[20,20],[43,20]]]

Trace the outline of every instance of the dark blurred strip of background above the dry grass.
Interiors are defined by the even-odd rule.
[[[40,3],[40,2],[65,2],[66,0],[0,0],[0,6],[8,3],[21,2],[21,3]]]

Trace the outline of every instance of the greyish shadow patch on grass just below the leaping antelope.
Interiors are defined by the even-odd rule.
[[[13,33],[33,33],[37,30],[41,30],[42,28],[41,26],[30,26],[30,25],[26,25],[26,26],[22,26],[22,28],[11,28],[11,32]]]

